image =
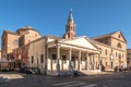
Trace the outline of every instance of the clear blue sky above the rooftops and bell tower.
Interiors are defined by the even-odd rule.
[[[76,36],[94,37],[121,30],[131,48],[131,0],[0,0],[0,36],[32,26],[61,37],[72,9]]]

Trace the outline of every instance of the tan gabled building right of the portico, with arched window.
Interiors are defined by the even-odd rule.
[[[92,38],[100,50],[100,62],[106,70],[127,65],[127,40],[121,32]]]

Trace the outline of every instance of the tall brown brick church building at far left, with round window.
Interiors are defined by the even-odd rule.
[[[27,57],[25,55],[26,53],[24,54],[24,52],[25,52],[25,49],[28,50],[27,49],[28,42],[39,37],[40,37],[40,34],[36,32],[34,28],[32,28],[31,26],[19,28],[16,33],[4,30],[1,38],[2,40],[1,58],[12,62],[10,66],[14,67],[15,66],[14,63],[17,60],[17,57],[21,60]]]

